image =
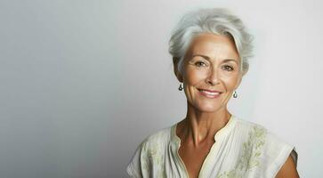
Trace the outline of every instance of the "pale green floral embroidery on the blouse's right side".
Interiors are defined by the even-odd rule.
[[[265,143],[266,130],[262,126],[254,125],[253,130],[248,133],[248,139],[243,143],[243,152],[235,169],[230,172],[218,174],[217,178],[242,178],[247,170],[260,166],[262,146]]]

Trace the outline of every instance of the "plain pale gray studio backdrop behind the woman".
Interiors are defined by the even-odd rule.
[[[322,5],[1,0],[0,177],[126,177],[140,142],[185,117],[168,40],[206,7],[230,8],[254,35],[230,111],[295,145],[302,177],[322,177]]]

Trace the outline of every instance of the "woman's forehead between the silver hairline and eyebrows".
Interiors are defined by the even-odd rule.
[[[190,44],[190,55],[206,55],[211,59],[230,58],[238,61],[238,51],[229,36],[202,34],[196,36]]]

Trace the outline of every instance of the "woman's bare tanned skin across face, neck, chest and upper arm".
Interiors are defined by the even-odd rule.
[[[182,73],[174,62],[174,73],[183,83],[188,105],[187,115],[177,125],[176,134],[181,139],[179,155],[190,178],[198,177],[215,142],[214,134],[230,119],[227,104],[241,82],[240,65],[238,51],[231,38],[214,34],[202,34],[193,39],[184,57]],[[200,89],[221,94],[217,98],[209,98]],[[277,177],[297,177],[294,175],[297,171],[288,158]]]

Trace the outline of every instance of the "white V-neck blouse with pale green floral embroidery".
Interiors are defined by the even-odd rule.
[[[141,142],[126,168],[131,177],[189,178],[178,154],[181,140],[176,135],[176,125]],[[297,161],[293,146],[261,125],[234,116],[214,135],[214,141],[199,172],[200,178],[271,178],[279,172],[289,154],[292,153],[295,163]]]

